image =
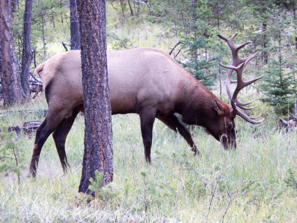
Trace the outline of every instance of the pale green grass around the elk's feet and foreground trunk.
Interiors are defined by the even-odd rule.
[[[44,104],[39,97],[24,107],[45,108]],[[273,131],[268,124],[274,122],[272,118],[257,126],[236,118],[238,149],[230,151],[201,128],[192,128],[201,153],[197,157],[180,135],[156,120],[152,165],[147,166],[138,115],[115,115],[114,181],[95,199],[78,193],[83,116],[67,138],[71,166],[67,175],[50,137],[42,149],[37,179],[26,178],[34,137],[21,136],[17,148],[24,167],[20,189],[16,174],[1,174],[0,221],[297,222],[297,188],[292,183],[297,136]],[[24,119],[13,116],[4,122],[16,125]]]

